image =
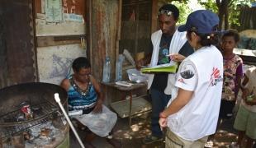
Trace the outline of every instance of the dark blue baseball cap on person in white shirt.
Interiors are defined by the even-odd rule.
[[[187,16],[185,25],[178,27],[178,31],[187,30],[196,31],[200,34],[210,34],[216,31],[216,25],[219,25],[219,17],[216,13],[208,10],[198,10]]]

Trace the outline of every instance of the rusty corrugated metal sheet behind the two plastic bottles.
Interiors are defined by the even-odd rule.
[[[102,67],[106,56],[111,57],[111,81],[115,76],[116,40],[119,27],[119,1],[92,1],[92,44],[89,53],[92,74],[102,80]]]

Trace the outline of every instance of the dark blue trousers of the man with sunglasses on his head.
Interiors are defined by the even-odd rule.
[[[150,89],[150,93],[152,99],[151,131],[153,136],[161,137],[163,132],[159,126],[159,113],[164,110],[171,95],[165,95],[164,92],[156,89]]]

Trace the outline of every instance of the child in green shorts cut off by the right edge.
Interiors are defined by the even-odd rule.
[[[246,135],[245,147],[251,148],[256,139],[256,67],[246,71],[241,88],[243,95],[234,123],[235,129],[239,131],[238,141],[231,147],[241,147]]]

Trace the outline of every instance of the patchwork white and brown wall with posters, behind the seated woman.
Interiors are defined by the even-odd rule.
[[[59,85],[64,77],[72,74],[70,64],[78,57],[88,57],[87,27],[88,2],[91,0],[57,0],[53,15],[59,20],[48,19],[50,0],[34,0],[36,17],[37,67],[39,81]]]

